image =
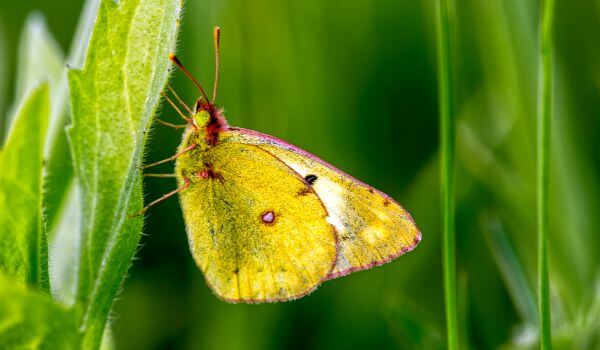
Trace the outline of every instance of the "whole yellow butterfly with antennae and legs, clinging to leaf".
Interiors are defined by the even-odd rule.
[[[179,194],[194,260],[213,292],[228,302],[300,298],[323,281],[389,262],[421,241],[410,214],[392,198],[275,137],[230,127],[217,108],[220,30],[214,31],[213,98],[201,92],[186,109],[176,160]]]

